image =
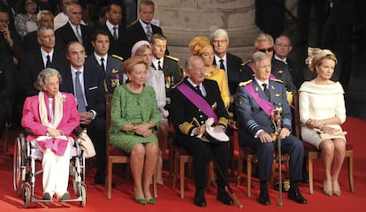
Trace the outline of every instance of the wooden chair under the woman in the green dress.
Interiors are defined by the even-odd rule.
[[[119,148],[114,148],[110,144],[109,140],[109,130],[111,127],[111,101],[113,95],[109,94],[106,95],[106,140],[107,140],[107,175],[106,175],[106,186],[107,186],[107,195],[108,199],[111,199],[111,185],[112,185],[112,170],[113,164],[116,163],[130,163],[130,157],[124,151]],[[157,198],[157,182],[156,182],[156,171],[154,172],[153,177],[153,190],[154,190],[154,197]]]

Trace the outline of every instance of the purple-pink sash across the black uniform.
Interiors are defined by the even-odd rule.
[[[177,89],[198,109],[202,110],[206,116],[212,117],[215,120],[215,123],[217,123],[217,116],[214,110],[212,110],[210,104],[206,102],[201,95],[197,94],[191,87],[188,87],[186,83],[181,83]]]

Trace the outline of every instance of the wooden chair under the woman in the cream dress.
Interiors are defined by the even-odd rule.
[[[299,94],[294,94],[294,133],[295,136],[301,139],[301,123],[299,111]],[[308,172],[309,172],[309,193],[314,193],[314,168],[313,160],[321,158],[321,150],[315,148],[311,144],[304,142],[304,155],[308,158]],[[346,143],[346,159],[348,166],[348,183],[349,190],[354,193],[354,150],[353,145],[349,141]]]

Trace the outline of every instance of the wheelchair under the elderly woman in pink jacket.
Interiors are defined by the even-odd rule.
[[[52,200],[36,199],[34,196],[35,177],[42,173],[37,170],[36,162],[42,162],[42,150],[34,142],[27,141],[27,132],[20,133],[15,140],[13,158],[13,186],[14,191],[22,198],[24,207],[28,208],[30,202],[49,203]],[[71,148],[69,176],[72,178],[75,199],[61,201],[80,201],[80,207],[85,207],[87,201],[87,186],[85,180],[85,156],[80,148],[79,141],[75,140]],[[69,178],[69,184],[70,184]]]

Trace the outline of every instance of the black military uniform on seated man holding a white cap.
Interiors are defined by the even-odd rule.
[[[186,83],[188,87],[194,89],[191,83],[184,79],[181,83]],[[180,85],[180,84],[179,84]],[[178,86],[179,86],[178,85]],[[204,79],[202,86],[206,90],[207,95],[203,97],[214,110],[217,115],[217,125],[227,126],[228,114],[225,110],[224,102],[220,97],[217,82],[211,79]],[[198,91],[196,91],[198,92]],[[173,143],[180,148],[187,150],[194,158],[194,181],[196,190],[202,190],[206,186],[207,165],[210,162],[211,155],[215,157],[218,166],[224,173],[224,178],[228,179],[228,146],[227,142],[218,142],[210,139],[210,142],[191,136],[192,131],[197,125],[202,125],[208,116],[199,110],[178,88],[172,89],[172,112],[169,116],[175,129],[175,138]],[[225,181],[217,178],[217,186],[224,187]]]

